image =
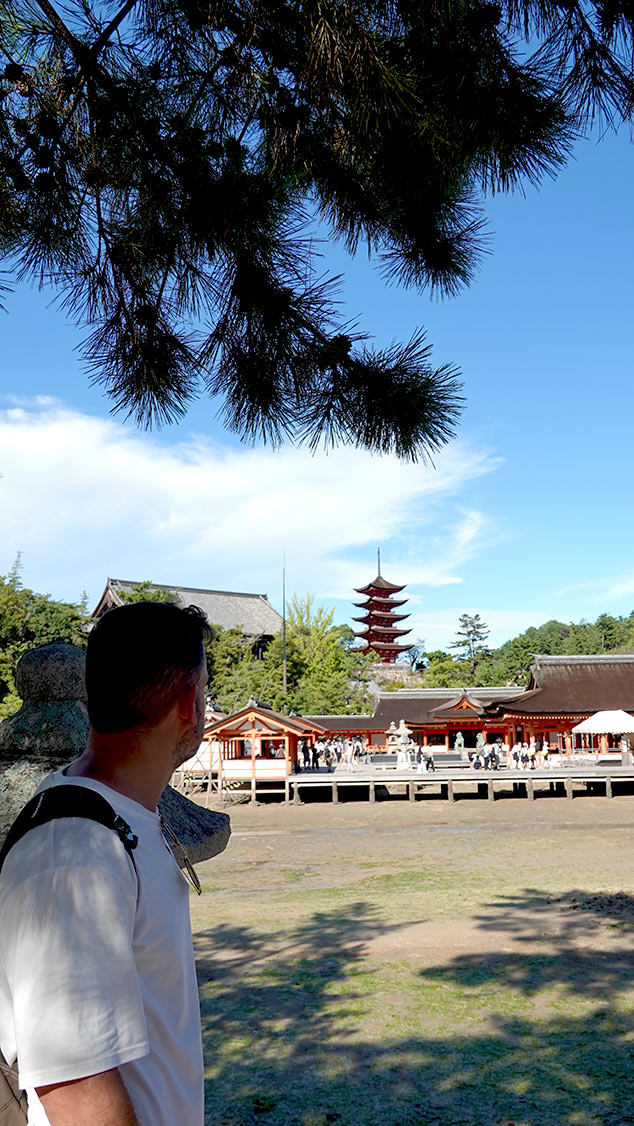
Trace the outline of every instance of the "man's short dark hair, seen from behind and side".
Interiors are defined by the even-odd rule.
[[[148,601],[108,610],[90,631],[86,651],[92,727],[109,734],[160,723],[194,683],[208,632],[197,606]]]

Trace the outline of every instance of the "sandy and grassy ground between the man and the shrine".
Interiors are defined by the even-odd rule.
[[[634,798],[232,823],[193,902],[209,1126],[634,1121]]]

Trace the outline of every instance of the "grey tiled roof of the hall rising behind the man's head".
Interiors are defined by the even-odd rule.
[[[134,590],[141,586],[125,579],[108,579],[113,591]],[[152,583],[154,590],[175,596],[179,606],[199,606],[211,625],[231,629],[240,626],[250,637],[273,636],[282,629],[282,615],[270,605],[266,595],[245,595],[235,590],[204,590],[199,587],[168,587]]]

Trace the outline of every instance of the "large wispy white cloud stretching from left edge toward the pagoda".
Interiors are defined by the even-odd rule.
[[[349,598],[359,552],[373,558],[381,543],[409,586],[458,583],[490,529],[447,498],[498,465],[464,441],[434,468],[351,449],[168,446],[48,400],[14,401],[0,410],[0,569],[23,551],[25,582],[57,598],[87,589],[96,601],[109,574],[266,590],[279,604],[284,551],[291,590]]]

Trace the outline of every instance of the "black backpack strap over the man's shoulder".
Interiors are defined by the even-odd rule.
[[[25,833],[44,825],[48,821],[56,821],[60,817],[87,817],[89,821],[97,821],[106,829],[117,833],[123,846],[134,864],[134,849],[139,843],[139,838],[132,832],[127,821],[124,821],[113,806],[101,794],[87,786],[51,786],[43,789],[41,794],[32,797],[24,810],[18,813],[14,824],[9,829],[7,839],[0,850],[0,872],[14,844],[17,844]]]

